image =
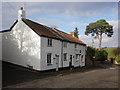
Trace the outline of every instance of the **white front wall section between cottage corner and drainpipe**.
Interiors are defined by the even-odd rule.
[[[41,37],[41,69],[49,70],[56,68],[55,54],[59,55],[59,67],[61,67],[61,41],[52,39],[52,47],[48,47],[48,38]],[[47,65],[47,53],[52,53],[52,65]]]

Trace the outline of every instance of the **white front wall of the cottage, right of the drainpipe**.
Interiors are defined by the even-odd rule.
[[[85,66],[85,46],[77,44],[77,47],[75,48],[75,43],[68,42],[67,47],[63,47],[63,53],[67,53],[67,60],[63,60],[63,67],[69,67],[70,55],[72,55],[72,66]],[[76,54],[83,55],[83,59],[81,60],[81,56],[76,59]]]

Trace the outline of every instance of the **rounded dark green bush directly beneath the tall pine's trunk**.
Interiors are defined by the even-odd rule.
[[[95,52],[95,60],[96,61],[105,61],[107,60],[108,53],[105,50],[96,50]]]

